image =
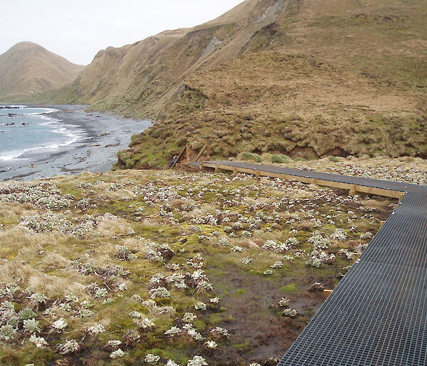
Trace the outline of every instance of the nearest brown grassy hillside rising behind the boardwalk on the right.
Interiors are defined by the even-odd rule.
[[[241,56],[186,78],[120,164],[162,164],[186,142],[214,157],[426,157],[426,3],[316,4],[295,1]]]

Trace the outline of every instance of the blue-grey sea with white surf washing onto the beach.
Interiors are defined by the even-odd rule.
[[[80,139],[75,127],[50,116],[58,110],[26,105],[0,106],[0,162],[22,159],[28,152],[54,152]],[[83,130],[82,130],[83,132]]]

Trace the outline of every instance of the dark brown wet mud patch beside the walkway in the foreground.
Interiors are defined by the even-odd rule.
[[[321,292],[307,291],[307,283],[315,282],[310,275],[284,276],[273,281],[268,276],[244,273],[231,265],[223,266],[219,275],[209,267],[206,273],[216,283],[216,293],[225,308],[220,326],[227,328],[231,335],[230,345],[223,347],[221,355],[211,358],[215,365],[248,365],[250,362],[268,365],[269,360],[280,359],[323,303]],[[329,277],[322,280],[336,282],[336,276]],[[297,290],[290,293],[290,288]],[[273,306],[281,298],[290,299],[291,307],[298,312],[295,318],[282,316],[283,308]]]

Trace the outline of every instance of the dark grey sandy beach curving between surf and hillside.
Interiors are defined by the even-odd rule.
[[[19,159],[0,162],[0,181],[28,181],[85,171],[107,172],[117,161],[117,152],[129,145],[130,137],[152,125],[151,120],[85,112],[83,105],[48,107],[60,110],[48,116],[62,120],[68,130],[80,133],[80,139],[54,152],[28,152]]]

